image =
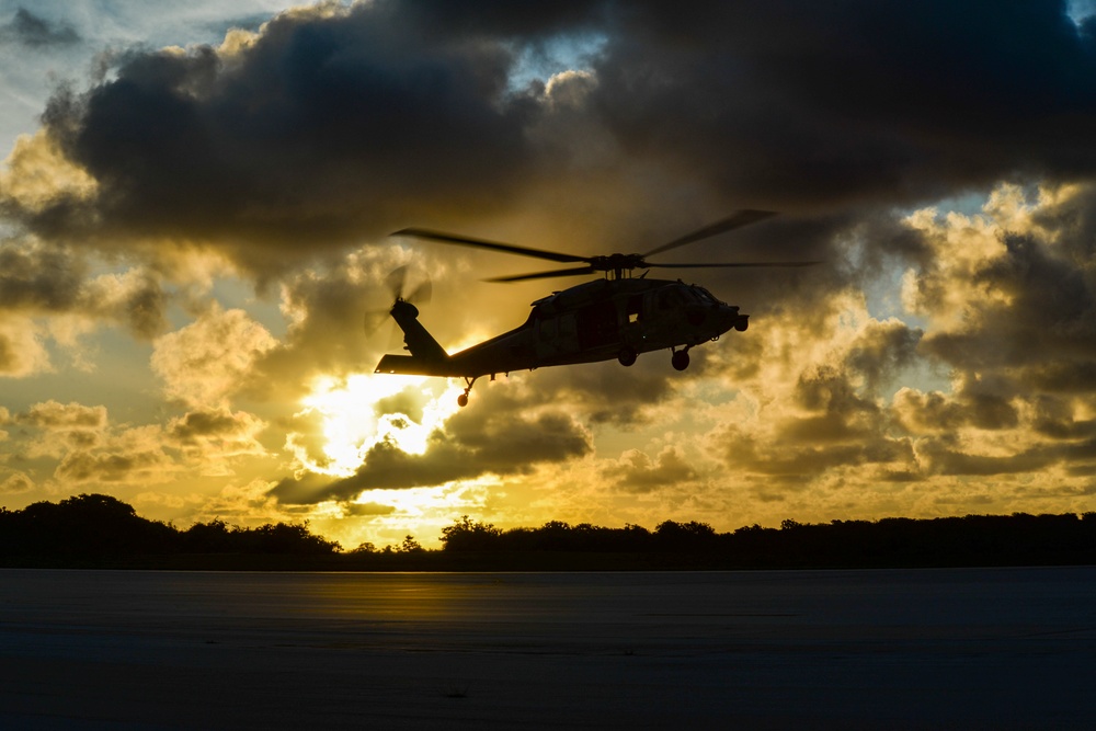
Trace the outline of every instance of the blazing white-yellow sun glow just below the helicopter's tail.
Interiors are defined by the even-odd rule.
[[[320,419],[322,462],[298,458],[315,472],[350,477],[377,444],[425,454],[431,433],[458,411],[458,386],[425,376],[322,378],[301,400]]]

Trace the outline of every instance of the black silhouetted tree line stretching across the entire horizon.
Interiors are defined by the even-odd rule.
[[[465,515],[443,528],[439,539],[438,550],[423,549],[407,536],[380,550],[363,544],[347,551],[311,533],[307,523],[239,527],[214,519],[179,529],[140,517],[133,506],[102,494],[0,509],[2,566],[338,570],[1096,564],[1096,513],[820,524],[788,519],[779,528],[752,525],[728,533],[707,523],[674,521],[653,530],[560,521],[501,529]]]

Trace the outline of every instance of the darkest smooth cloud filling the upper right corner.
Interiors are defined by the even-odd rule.
[[[1094,38],[1065,9],[644,4],[596,67],[598,108],[629,151],[788,206],[1089,173]]]

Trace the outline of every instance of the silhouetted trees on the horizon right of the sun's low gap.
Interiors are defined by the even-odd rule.
[[[787,519],[717,533],[706,523],[666,521],[604,528],[550,522],[501,530],[463,516],[442,530],[447,551],[630,552],[693,556],[711,568],[886,568],[1096,563],[1096,513],[967,515],[928,519]],[[678,563],[681,561],[677,561]]]

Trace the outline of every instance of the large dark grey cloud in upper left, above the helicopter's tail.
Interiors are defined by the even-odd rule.
[[[100,193],[32,222],[292,249],[501,203],[528,158],[510,53],[425,37],[389,5],[279,16],[236,56],[133,52],[116,79],[59,92],[44,121]]]

